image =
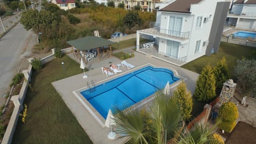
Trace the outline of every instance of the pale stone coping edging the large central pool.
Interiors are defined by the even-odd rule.
[[[136,70],[139,70],[139,69],[141,69],[141,68],[145,68],[145,67],[147,67],[147,66],[151,66],[151,67],[154,67],[154,68],[165,68],[165,69],[171,70],[171,71],[173,72],[174,77],[179,78],[179,80],[176,81],[176,82],[174,82],[174,83],[172,83],[172,84],[170,84],[170,89],[172,89],[173,87],[177,86],[181,81],[186,81],[186,80],[187,80],[187,78],[180,76],[179,73],[178,73],[178,71],[175,70],[175,69],[173,69],[173,68],[165,67],[165,66],[161,66],[161,67],[160,67],[160,66],[155,66],[155,65],[153,65],[153,64],[151,64],[151,63],[147,63],[147,64],[145,64],[145,65],[142,65],[142,66],[139,66],[139,67],[136,67],[136,68],[127,70],[127,71],[121,73],[120,75],[115,75],[115,76],[113,76],[113,77],[108,77],[108,78],[106,78],[106,79],[103,79],[102,81],[96,82],[95,85],[100,85],[100,84],[109,82],[109,81],[111,81],[111,80],[113,80],[113,79],[122,77],[122,76],[124,76],[124,75],[126,75],[126,74],[132,73],[132,71],[136,71]],[[106,121],[105,118],[103,118],[103,117],[101,116],[101,114],[98,112],[98,110],[96,110],[96,109],[91,105],[91,103],[90,103],[89,101],[87,101],[87,100],[83,97],[83,95],[80,93],[81,91],[84,91],[84,90],[87,90],[87,89],[90,89],[90,88],[89,88],[88,86],[84,86],[84,87],[81,87],[81,88],[79,88],[79,89],[77,89],[77,90],[72,91],[72,93],[76,96],[76,98],[79,100],[79,102],[82,103],[82,105],[85,107],[85,109],[89,111],[89,113],[94,117],[94,119],[95,119],[102,127],[106,127],[106,125],[105,125],[105,121]],[[158,92],[158,91],[157,91],[157,92]],[[131,107],[137,109],[137,108],[140,108],[140,107],[146,105],[146,104],[149,103],[150,101],[153,101],[153,100],[154,100],[154,97],[155,97],[155,94],[156,94],[157,92],[155,92],[155,93],[149,95],[147,98],[145,98],[145,99],[143,99],[143,100],[141,100],[141,101],[139,101],[139,102],[137,102],[137,103],[134,103],[134,105],[132,105]]]

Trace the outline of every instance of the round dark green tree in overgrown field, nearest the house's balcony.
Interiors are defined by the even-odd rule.
[[[141,25],[141,18],[136,11],[129,11],[123,18],[124,25],[128,28],[132,28],[135,25]]]

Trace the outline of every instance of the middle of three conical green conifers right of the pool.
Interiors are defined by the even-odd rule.
[[[212,67],[207,65],[203,68],[201,75],[196,81],[194,97],[198,101],[209,102],[215,98],[215,77]]]

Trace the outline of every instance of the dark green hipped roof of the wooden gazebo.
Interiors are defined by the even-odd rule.
[[[107,46],[113,44],[114,42],[108,41],[108,39],[104,39],[101,37],[95,36],[86,36],[78,39],[74,39],[72,41],[68,41],[68,44],[74,46],[76,49],[80,51],[90,50],[97,47]]]

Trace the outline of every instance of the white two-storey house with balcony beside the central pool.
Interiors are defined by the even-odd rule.
[[[230,2],[225,0],[161,3],[154,27],[137,30],[137,50],[163,60],[168,58],[166,61],[178,66],[216,53],[229,6]],[[141,48],[140,37],[153,39],[156,52]]]

